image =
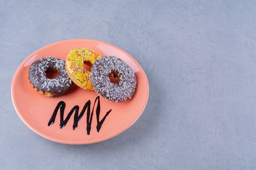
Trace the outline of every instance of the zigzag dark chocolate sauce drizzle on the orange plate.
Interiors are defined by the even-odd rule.
[[[64,120],[64,111],[65,111],[65,102],[61,101],[57,104],[56,108],[54,109],[54,112],[52,114],[51,119],[49,120],[48,126],[51,126],[52,124],[54,124],[56,115],[58,110],[60,109],[60,116],[61,116],[61,122],[60,122],[60,128],[64,128],[65,125],[67,124],[67,122],[69,121],[71,115],[75,112],[74,115],[74,124],[73,124],[73,130],[75,130],[78,126],[79,121],[81,120],[81,118],[83,117],[85,110],[87,109],[87,119],[86,119],[86,123],[87,123],[87,135],[90,135],[90,131],[91,131],[91,124],[92,124],[92,116],[93,116],[93,111],[94,111],[94,106],[95,103],[98,100],[98,104],[97,104],[97,108],[96,108],[96,117],[97,117],[97,132],[99,132],[99,130],[101,129],[102,124],[104,123],[106,117],[108,116],[108,114],[111,112],[112,109],[110,109],[106,115],[101,119],[101,121],[99,121],[99,115],[100,115],[100,102],[99,102],[99,96],[96,97],[95,101],[94,101],[94,105],[92,108],[92,113],[90,113],[90,106],[91,106],[91,101],[88,100],[88,102],[85,103],[85,105],[83,106],[83,109],[81,111],[81,113],[78,115],[79,112],[79,106],[74,106],[70,112],[67,114],[67,117]]]

